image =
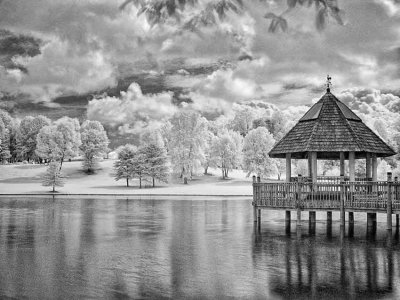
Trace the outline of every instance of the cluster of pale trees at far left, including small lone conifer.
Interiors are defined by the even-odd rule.
[[[103,125],[62,117],[56,121],[38,116],[12,118],[0,110],[0,161],[3,163],[48,163],[43,185],[62,185],[62,165],[66,159],[82,155],[85,172],[93,173],[98,158],[108,152],[109,140]]]

